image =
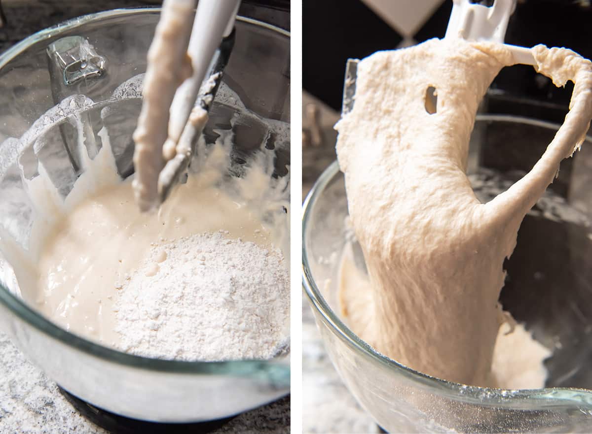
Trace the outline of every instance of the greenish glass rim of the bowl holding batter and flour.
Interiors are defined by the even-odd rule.
[[[27,48],[36,43],[40,43],[65,31],[70,31],[89,22],[97,22],[106,18],[126,17],[128,15],[155,14],[160,12],[159,7],[141,7],[141,8],[119,8],[108,11],[97,12],[95,14],[83,15],[82,17],[72,18],[60,24],[53,25],[40,30],[33,35],[15,44],[4,53],[0,54],[0,70],[6,66],[9,61],[14,60],[18,54],[21,54]],[[252,24],[256,27],[265,28],[274,31],[279,35],[290,38],[287,30],[268,24],[263,21],[253,20],[252,18],[237,17],[237,21],[246,24]],[[127,354],[116,349],[89,341],[81,336],[75,335],[60,328],[50,320],[46,319],[40,313],[31,309],[23,300],[14,296],[8,288],[0,283],[0,303],[7,309],[23,320],[28,325],[33,326],[41,333],[49,335],[50,338],[62,342],[62,344],[72,346],[88,355],[104,359],[115,364],[127,365],[133,368],[156,371],[160,373],[173,374],[202,374],[202,375],[229,375],[232,377],[265,379],[276,382],[278,386],[289,385],[290,368],[289,354],[276,357],[271,360],[230,360],[220,362],[202,362],[202,361],[179,361],[167,359],[155,359],[141,357],[133,354]],[[287,361],[285,360],[287,359]]]

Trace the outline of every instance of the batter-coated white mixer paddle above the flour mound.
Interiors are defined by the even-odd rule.
[[[239,5],[240,0],[200,0],[190,27],[186,15],[195,8],[195,0],[163,3],[148,56],[144,106],[134,133],[134,189],[143,211],[157,208],[186,174],[234,46]],[[161,61],[169,70],[159,70]],[[166,88],[176,85],[173,96]],[[146,92],[150,86],[159,89]],[[168,117],[166,134],[156,129],[160,125],[146,125],[159,115]]]

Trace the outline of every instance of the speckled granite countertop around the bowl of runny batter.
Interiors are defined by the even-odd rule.
[[[159,0],[4,0],[0,51],[42,28],[69,18],[118,7],[157,6]],[[212,434],[288,433],[290,398],[240,414]],[[110,434],[79,414],[55,383],[0,332],[0,433]]]

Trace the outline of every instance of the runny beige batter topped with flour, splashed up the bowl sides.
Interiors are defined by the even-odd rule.
[[[234,162],[234,123],[248,125],[254,116],[226,86],[218,95],[239,111],[230,126],[212,130],[215,142],[197,142],[187,182],[158,212],[138,209],[133,177],[118,172],[108,125],[98,132],[94,158],[90,139],[78,136],[83,170],[67,193],[44,164],[23,178],[33,204],[28,248],[4,232],[0,239],[14,293],[62,328],[132,354],[213,361],[284,352],[289,176],[272,176],[275,151],[265,142],[253,143],[243,164]],[[76,114],[78,100],[65,99],[47,119],[67,109]],[[73,120],[88,131],[88,116]],[[283,122],[257,121],[276,132],[278,144],[288,142]]]

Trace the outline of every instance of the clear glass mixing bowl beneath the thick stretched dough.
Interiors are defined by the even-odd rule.
[[[468,173],[487,201],[532,167],[558,125],[480,115]],[[385,357],[340,318],[337,271],[350,230],[343,174],[333,163],[304,203],[303,284],[325,348],[356,400],[387,432],[590,432],[592,429],[592,138],[562,163],[520,228],[501,302],[543,345],[546,388],[467,387]],[[356,245],[354,245],[356,247]],[[358,246],[359,247],[359,246]],[[359,248],[356,264],[364,271]]]

